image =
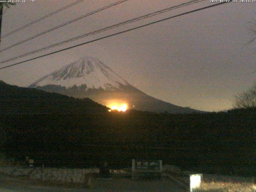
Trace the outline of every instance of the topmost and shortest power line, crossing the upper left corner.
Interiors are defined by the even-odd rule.
[[[41,17],[41,18],[38,18],[38,19],[36,19],[36,20],[34,20],[34,21],[32,21],[32,22],[30,22],[30,23],[28,23],[28,24],[26,24],[26,25],[24,25],[24,26],[22,26],[22,27],[20,27],[20,28],[18,28],[18,29],[16,29],[16,30],[13,30],[12,32],[9,32],[9,33],[7,33],[7,34],[4,34],[1,38],[5,38],[5,37],[7,37],[7,36],[9,36],[9,35],[11,35],[11,34],[14,34],[14,33],[18,32],[18,31],[20,31],[20,30],[22,30],[22,29],[24,29],[24,28],[27,28],[28,26],[30,26],[30,25],[32,25],[32,24],[34,24],[34,23],[37,23],[37,22],[39,22],[39,21],[41,21],[41,20],[43,20],[43,19],[45,19],[45,18],[48,18],[48,17],[50,17],[50,16],[52,16],[52,15],[58,13],[58,12],[61,12],[61,11],[65,10],[65,9],[67,9],[67,8],[69,8],[69,7],[71,7],[71,6],[74,6],[74,5],[76,5],[76,4],[80,3],[80,2],[83,2],[83,1],[84,1],[84,0],[78,0],[78,1],[76,1],[76,2],[74,2],[74,3],[71,3],[71,4],[67,5],[67,6],[64,6],[64,7],[60,8],[60,9],[58,9],[58,10],[56,10],[56,11],[54,11],[54,12],[51,12],[51,13],[49,13],[49,14],[47,14],[47,15]]]

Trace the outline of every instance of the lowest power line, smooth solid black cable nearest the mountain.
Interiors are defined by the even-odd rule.
[[[124,30],[124,31],[121,31],[121,32],[117,32],[117,33],[114,33],[114,34],[111,34],[111,35],[107,35],[107,36],[104,36],[104,37],[101,37],[101,38],[98,38],[98,39],[95,39],[95,40],[91,40],[91,41],[88,41],[88,42],[84,42],[84,43],[81,43],[81,44],[78,44],[78,45],[75,45],[75,46],[71,46],[71,47],[64,48],[64,49],[61,49],[61,50],[58,50],[58,51],[55,51],[55,52],[51,52],[51,53],[44,54],[44,55],[41,55],[41,56],[38,56],[38,57],[35,57],[35,58],[31,58],[31,59],[28,59],[28,60],[25,60],[25,61],[22,61],[22,62],[18,62],[18,63],[12,64],[12,65],[8,65],[8,66],[5,66],[5,67],[0,68],[0,70],[1,70],[1,69],[4,69],[4,68],[11,67],[11,66],[15,66],[15,65],[18,65],[18,64],[22,64],[22,63],[24,63],[24,62],[28,62],[28,61],[31,61],[31,60],[35,60],[35,59],[38,59],[38,58],[41,58],[41,57],[44,57],[44,56],[48,56],[48,55],[51,55],[51,54],[55,54],[55,53],[58,53],[58,52],[61,52],[61,51],[64,51],[64,50],[68,50],[68,49],[71,49],[71,48],[75,48],[75,47],[78,47],[78,46],[81,46],[81,45],[84,45],[84,44],[88,44],[88,43],[95,42],[95,41],[98,41],[98,40],[102,40],[102,39],[105,39],[105,38],[108,38],[108,37],[112,37],[112,36],[115,36],[115,35],[118,35],[118,34],[122,34],[122,33],[125,33],[125,32],[132,31],[132,30],[136,30],[136,29],[138,29],[138,28],[142,28],[142,27],[145,27],[145,26],[149,26],[149,25],[152,25],[152,24],[156,24],[156,23],[158,23],[158,22],[162,22],[162,21],[165,21],[165,20],[169,20],[169,19],[172,19],[172,18],[176,18],[176,17],[182,16],[182,15],[190,14],[190,13],[192,13],[192,12],[197,12],[197,11],[200,11],[200,10],[212,8],[212,7],[214,7],[214,6],[219,6],[219,5],[225,4],[225,3],[228,3],[228,2],[221,2],[221,3],[213,4],[213,5],[210,5],[210,6],[203,7],[203,8],[198,8],[198,9],[195,9],[195,10],[192,10],[192,11],[188,11],[188,12],[185,12],[185,13],[182,13],[182,14],[178,14],[178,15],[175,15],[175,16],[171,16],[171,17],[168,17],[168,18],[165,18],[165,19],[157,20],[157,21],[155,21],[155,22],[151,22],[151,23],[148,23],[148,24],[145,24],[145,25],[142,25],[142,26],[138,26],[138,27],[131,28],[131,29],[128,29],[128,30]]]

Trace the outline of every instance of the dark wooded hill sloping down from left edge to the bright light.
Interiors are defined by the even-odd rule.
[[[0,81],[0,114],[101,113],[108,108],[89,98],[78,99]]]

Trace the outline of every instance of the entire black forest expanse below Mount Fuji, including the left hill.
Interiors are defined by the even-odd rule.
[[[256,174],[256,108],[206,114],[105,112],[89,99],[3,82],[0,95],[2,150],[23,160],[30,156],[38,166],[98,166],[108,160],[117,167],[130,166],[132,158],[153,158],[202,172]]]

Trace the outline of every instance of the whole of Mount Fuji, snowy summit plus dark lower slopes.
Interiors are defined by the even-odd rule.
[[[153,98],[92,57],[80,58],[76,62],[63,66],[38,79],[29,88],[56,92],[75,98],[90,98],[106,106],[113,102],[122,102],[126,103],[129,109],[141,111],[174,114],[202,112]]]

